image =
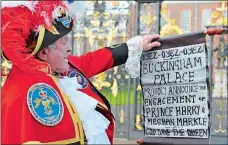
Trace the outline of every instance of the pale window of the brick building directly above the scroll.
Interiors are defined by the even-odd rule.
[[[183,10],[181,11],[181,28],[184,33],[189,33],[191,28],[191,11]]]

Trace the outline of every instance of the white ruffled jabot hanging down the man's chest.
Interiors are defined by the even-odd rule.
[[[88,144],[110,144],[105,132],[110,122],[95,110],[98,104],[97,100],[78,91],[82,87],[77,82],[76,77],[69,78],[65,76],[59,79],[59,84],[78,111]]]

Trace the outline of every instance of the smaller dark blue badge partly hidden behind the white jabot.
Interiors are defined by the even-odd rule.
[[[77,70],[72,69],[67,73],[67,76],[70,78],[76,77],[78,80],[78,83],[82,86],[83,89],[88,87],[88,80],[86,77],[84,77],[81,73],[79,73]]]

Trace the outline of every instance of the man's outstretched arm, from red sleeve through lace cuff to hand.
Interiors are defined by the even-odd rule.
[[[104,47],[82,56],[70,55],[68,60],[73,66],[79,68],[87,77],[92,77],[124,63],[126,63],[127,71],[133,72],[130,69],[140,65],[139,60],[142,51],[147,51],[153,47],[160,46],[159,42],[153,42],[153,40],[158,38],[158,34],[136,36],[126,43]],[[136,77],[135,74],[133,74],[133,77]]]

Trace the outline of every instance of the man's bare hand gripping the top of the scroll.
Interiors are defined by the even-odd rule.
[[[157,40],[160,38],[160,35],[159,34],[153,34],[153,35],[144,35],[142,36],[142,39],[143,39],[143,51],[147,51],[147,50],[150,50],[154,47],[158,47],[158,46],[161,46],[161,43],[158,42],[158,41],[154,41],[154,40]],[[154,42],[153,42],[154,41]]]

